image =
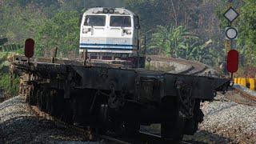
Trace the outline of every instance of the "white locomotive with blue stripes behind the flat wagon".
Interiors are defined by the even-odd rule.
[[[87,50],[92,59],[132,60],[138,56],[139,28],[138,15],[130,10],[91,8],[82,16],[79,52]]]

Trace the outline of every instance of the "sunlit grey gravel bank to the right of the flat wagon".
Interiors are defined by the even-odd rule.
[[[204,121],[195,138],[205,134],[218,137],[208,142],[256,143],[256,107],[215,101],[202,103],[202,111]]]

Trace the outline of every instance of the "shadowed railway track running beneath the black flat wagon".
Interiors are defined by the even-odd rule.
[[[138,134],[134,134],[132,136],[120,136],[111,132],[107,134],[97,134],[92,133],[90,130],[86,130],[86,128],[78,127],[70,125],[69,123],[62,122],[52,116],[50,114],[46,114],[42,110],[39,110],[37,106],[28,105],[29,109],[36,115],[36,117],[40,121],[50,120],[55,123],[55,126],[64,127],[66,129],[76,130],[80,134],[84,134],[88,141],[92,142],[103,142],[103,143],[117,143],[117,144],[166,144],[166,143],[182,143],[189,144],[189,142],[176,142],[170,139],[161,138],[159,135],[149,134],[143,131],[139,131]]]

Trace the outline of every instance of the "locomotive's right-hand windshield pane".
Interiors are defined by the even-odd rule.
[[[131,21],[129,16],[111,16],[110,26],[130,27]]]

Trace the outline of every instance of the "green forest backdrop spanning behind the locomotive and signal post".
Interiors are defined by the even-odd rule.
[[[222,14],[227,1],[222,0],[0,1],[0,38],[8,38],[3,50],[19,49],[26,38],[34,38],[37,56],[47,55],[54,47],[62,54],[77,53],[80,16],[93,6],[126,6],[139,14],[141,34],[149,38],[148,54],[186,58],[210,66],[225,61],[227,22]],[[234,26],[239,32],[242,66],[256,66],[256,2],[236,1],[234,8],[241,13]]]

